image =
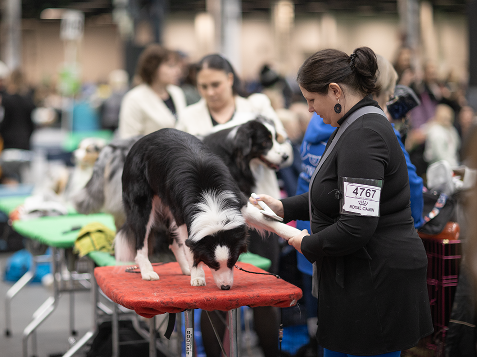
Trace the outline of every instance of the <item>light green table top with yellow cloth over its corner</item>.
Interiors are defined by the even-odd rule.
[[[50,247],[72,248],[79,230],[91,222],[100,222],[116,230],[113,216],[105,213],[17,220],[13,222],[13,229],[25,237],[38,240]]]

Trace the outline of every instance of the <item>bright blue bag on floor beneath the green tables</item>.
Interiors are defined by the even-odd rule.
[[[47,254],[50,254],[50,252],[47,251]],[[32,263],[33,256],[28,250],[21,249],[13,253],[11,257],[7,259],[7,263],[5,264],[3,280],[12,282],[17,281],[31,268]],[[32,282],[41,282],[41,278],[43,278],[44,275],[50,273],[50,270],[50,263],[38,263],[36,265],[36,274]]]

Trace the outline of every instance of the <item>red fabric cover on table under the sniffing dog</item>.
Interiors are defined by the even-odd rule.
[[[265,273],[247,263],[237,265]],[[220,290],[207,267],[204,269],[205,287],[192,287],[190,277],[182,275],[176,262],[154,266],[154,270],[159,274],[159,280],[143,280],[141,274],[126,272],[125,266],[95,268],[94,277],[106,296],[147,318],[194,308],[228,311],[240,306],[290,307],[302,295],[300,288],[285,280],[272,275],[250,274],[237,268],[230,290]]]

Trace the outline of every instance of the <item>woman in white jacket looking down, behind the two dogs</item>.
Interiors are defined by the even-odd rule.
[[[239,78],[225,58],[218,54],[204,57],[197,65],[197,89],[202,97],[197,103],[189,105],[180,114],[176,129],[193,135],[206,135],[220,125],[240,124],[262,115],[272,119],[277,132],[287,138],[280,119],[264,94],[252,94],[248,97],[240,89]],[[227,123],[227,124],[226,124]],[[293,149],[288,140],[282,144],[283,151],[289,159],[282,167],[293,162]],[[280,187],[274,170],[265,166],[258,159],[250,162],[250,169],[255,178],[256,192],[266,192],[274,198],[280,198]],[[270,258],[272,266],[269,271],[277,273],[280,256],[278,236],[262,239],[256,232],[250,232],[249,250],[252,253]],[[273,307],[255,307],[254,323],[260,345],[265,357],[278,355],[278,314]],[[223,331],[223,324],[215,314],[211,314],[214,325]],[[220,348],[210,327],[206,314],[201,315],[202,338],[207,357],[218,357]],[[219,332],[220,333],[220,332]]]

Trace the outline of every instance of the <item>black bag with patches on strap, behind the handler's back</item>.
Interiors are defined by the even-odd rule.
[[[453,197],[433,192],[423,192],[424,208],[423,215],[426,223],[419,228],[419,232],[437,235],[446,227],[446,223],[454,221],[454,208],[456,201]]]

